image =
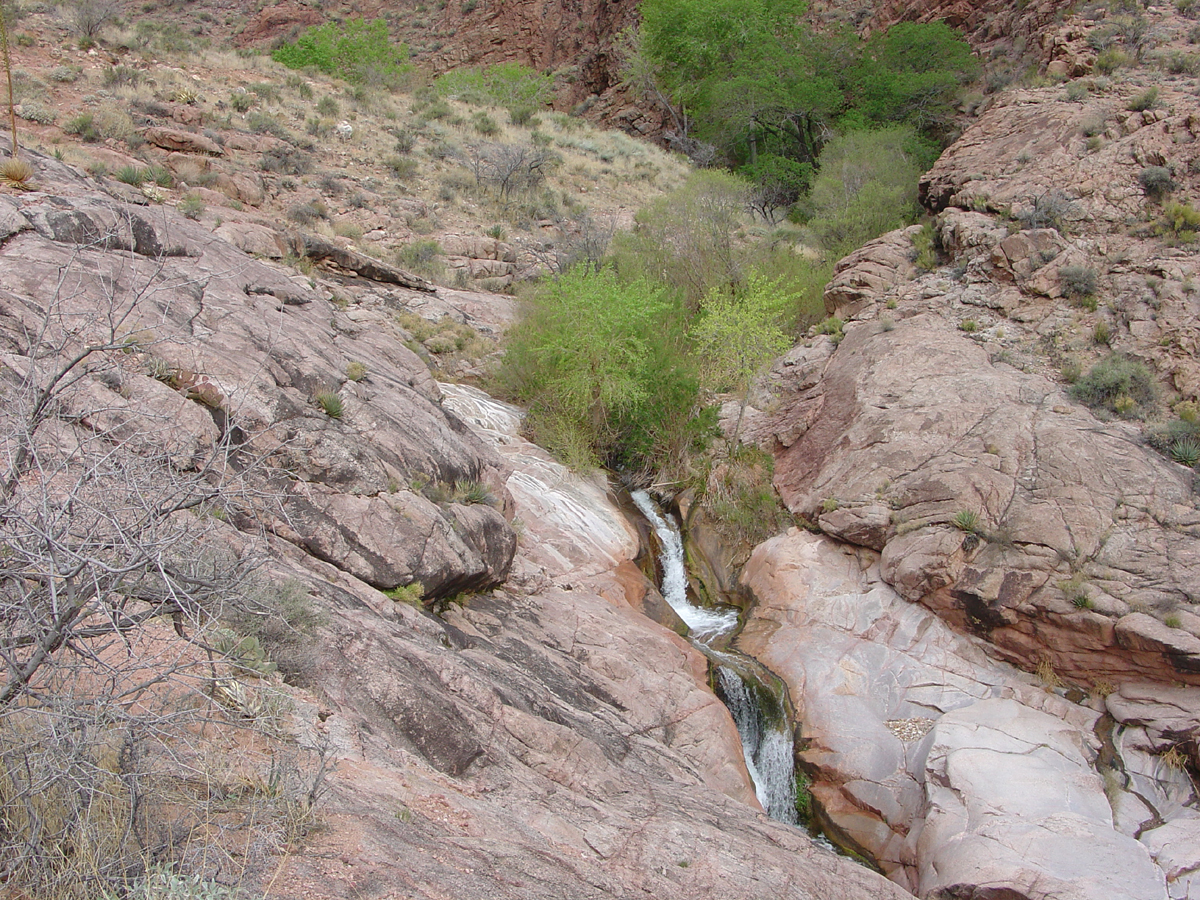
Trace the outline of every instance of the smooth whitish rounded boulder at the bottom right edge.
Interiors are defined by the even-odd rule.
[[[1094,750],[1052,715],[983,700],[929,736],[920,896],[1164,900],[1148,848],[1112,828]]]

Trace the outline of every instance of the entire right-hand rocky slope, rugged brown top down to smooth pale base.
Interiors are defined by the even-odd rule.
[[[1147,18],[1165,66],[1188,25]],[[922,181],[938,259],[912,227],[842,260],[844,337],[751,416],[822,534],[757,548],[740,646],[791,686],[822,815],[922,896],[1198,890],[1200,504],[1151,438],[1196,400],[1194,236],[1164,211],[1195,200],[1200,110],[1189,79],[1091,77],[1111,24],[1045,35],[1078,79],[990,102]],[[1154,400],[1075,398],[1112,353]]]

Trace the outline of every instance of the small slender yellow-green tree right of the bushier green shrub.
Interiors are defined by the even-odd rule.
[[[709,390],[733,390],[740,395],[738,421],[730,436],[737,446],[750,386],[763,366],[791,347],[784,323],[794,314],[797,298],[781,280],[751,275],[745,290],[714,290],[701,307],[691,329],[696,353],[704,360],[701,384]]]

